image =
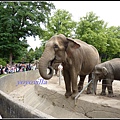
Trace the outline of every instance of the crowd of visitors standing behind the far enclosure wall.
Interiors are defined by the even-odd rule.
[[[24,72],[29,70],[36,70],[36,64],[31,63],[16,63],[12,66],[7,64],[6,66],[0,65],[0,75],[1,74],[9,74],[9,73],[16,73],[16,72]]]

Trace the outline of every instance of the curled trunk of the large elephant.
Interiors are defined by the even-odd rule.
[[[51,66],[51,62],[54,59],[54,53],[50,50],[45,50],[39,60],[39,73],[41,77],[49,80],[54,73],[54,69]]]

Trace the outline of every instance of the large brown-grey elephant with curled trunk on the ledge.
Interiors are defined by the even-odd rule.
[[[51,37],[45,45],[45,50],[39,60],[39,73],[48,80],[53,76],[53,63],[62,63],[63,77],[68,98],[74,99],[83,88],[86,75],[91,79],[93,68],[100,63],[99,54],[95,47],[81,40],[67,38],[63,34]],[[47,74],[47,68],[50,72]],[[80,82],[77,85],[77,78]],[[87,93],[92,93],[91,85]]]

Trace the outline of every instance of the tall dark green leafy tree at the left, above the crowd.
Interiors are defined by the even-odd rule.
[[[53,3],[40,2],[0,2],[0,50],[10,56],[19,55],[23,47],[27,48],[26,37],[42,36],[42,25],[48,22]],[[15,58],[15,57],[14,57]]]

